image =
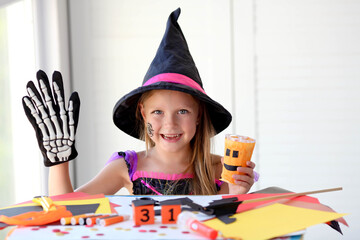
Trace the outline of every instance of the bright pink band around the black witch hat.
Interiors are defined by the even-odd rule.
[[[191,78],[189,78],[189,77],[187,77],[185,75],[179,74],[179,73],[161,73],[161,74],[158,74],[158,75],[150,78],[149,80],[147,80],[146,83],[144,83],[143,86],[148,86],[148,85],[151,85],[151,84],[157,83],[157,82],[169,82],[169,83],[182,84],[182,85],[194,88],[196,90],[199,90],[200,92],[207,95],[205,93],[204,89],[202,89],[202,87],[197,82],[195,82]]]

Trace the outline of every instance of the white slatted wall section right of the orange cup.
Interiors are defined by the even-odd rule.
[[[260,186],[293,191],[342,186],[342,192],[318,197],[350,213],[352,229],[344,228],[344,238],[355,239],[354,231],[360,233],[354,200],[360,196],[360,2],[256,1],[255,7]],[[308,235],[339,237],[322,228]]]

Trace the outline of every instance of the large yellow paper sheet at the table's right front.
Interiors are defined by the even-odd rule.
[[[279,237],[325,223],[346,214],[305,209],[283,204],[272,204],[259,209],[234,214],[236,221],[224,224],[219,219],[204,222],[205,225],[219,230],[225,238],[257,240]]]

